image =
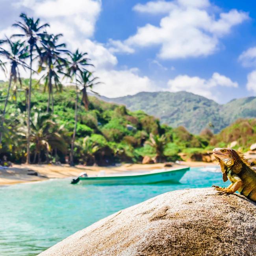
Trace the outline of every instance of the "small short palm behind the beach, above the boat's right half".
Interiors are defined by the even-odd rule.
[[[150,145],[152,148],[156,150],[156,158],[155,158],[156,163],[159,163],[164,160],[165,155],[163,151],[165,149],[165,145],[167,144],[166,137],[164,134],[159,136],[151,133],[149,135],[149,141],[146,141],[145,143]]]

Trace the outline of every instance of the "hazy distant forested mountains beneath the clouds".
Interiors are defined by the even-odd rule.
[[[124,104],[132,111],[143,110],[160,118],[162,123],[184,126],[194,134],[199,134],[209,124],[213,125],[214,133],[218,133],[238,118],[256,117],[256,97],[235,99],[224,105],[185,91],[141,92],[119,98],[101,98]]]

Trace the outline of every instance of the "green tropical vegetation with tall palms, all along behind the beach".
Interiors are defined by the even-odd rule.
[[[25,14],[20,18],[14,26],[21,33],[0,40],[0,71],[8,78],[0,82],[0,159],[111,165],[147,156],[161,162],[232,140],[245,150],[255,141],[255,119],[237,121],[217,135],[213,119],[193,135],[141,110],[89,96],[101,82],[84,49],[71,52],[61,34],[47,33],[49,24]],[[20,76],[21,68],[29,78]]]

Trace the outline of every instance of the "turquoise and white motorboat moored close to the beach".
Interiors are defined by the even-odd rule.
[[[178,183],[189,167],[156,169],[148,172],[108,174],[79,177],[82,184],[152,184],[159,182]]]

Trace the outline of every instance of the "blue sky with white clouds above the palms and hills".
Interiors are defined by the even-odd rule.
[[[239,0],[2,0],[0,37],[20,12],[88,52],[108,97],[189,91],[219,103],[256,95],[256,3]],[[26,74],[24,74],[26,76]],[[1,77],[1,75],[0,75]]]

